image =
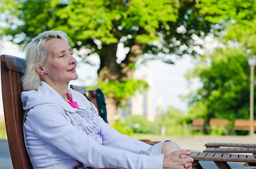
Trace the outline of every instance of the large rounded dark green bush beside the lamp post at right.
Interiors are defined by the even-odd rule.
[[[231,122],[249,118],[250,66],[242,49],[206,54],[187,77],[199,77],[203,84],[188,96],[191,117],[228,118]]]

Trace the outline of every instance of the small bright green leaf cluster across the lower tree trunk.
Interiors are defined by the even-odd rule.
[[[122,101],[127,101],[135,92],[143,92],[149,87],[149,84],[144,80],[123,80],[121,82],[99,82],[97,84],[104,94],[108,97],[115,96],[115,99],[122,104]]]

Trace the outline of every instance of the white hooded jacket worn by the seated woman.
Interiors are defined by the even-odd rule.
[[[105,123],[95,106],[68,89],[78,109],[72,108],[50,85],[22,92],[25,145],[34,168],[163,168],[160,142],[154,146],[120,134]],[[72,123],[74,125],[72,125]],[[80,164],[81,164],[80,163]]]

